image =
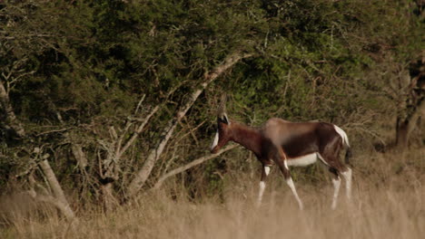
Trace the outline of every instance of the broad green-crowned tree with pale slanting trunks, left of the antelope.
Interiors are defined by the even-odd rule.
[[[83,149],[93,147],[93,142],[95,148],[100,148],[96,149],[98,156],[95,158],[102,165],[97,174],[106,205],[114,202],[114,183],[118,179],[122,180],[120,174],[124,171],[122,167],[128,157],[127,149],[142,133],[155,112],[159,111],[158,115],[170,118],[168,123],[159,124],[164,127],[165,138],[163,134],[153,136],[160,139],[158,146],[153,144],[155,149],[143,162],[146,167],[142,168],[148,169],[142,169],[143,173],[130,184],[132,196],[141,187],[141,183],[135,182],[142,178],[143,185],[150,176],[156,159],[161,156],[174,129],[177,129],[180,119],[191,109],[193,102],[211,81],[250,55],[244,51],[252,50],[248,40],[240,43],[241,35],[246,34],[245,28],[249,27],[248,23],[244,24],[246,14],[234,19],[235,25],[228,25],[222,28],[223,31],[218,31],[221,23],[226,23],[234,14],[243,10],[236,9],[233,12],[227,9],[222,18],[214,19],[220,9],[226,9],[220,2],[208,5],[207,8],[187,5],[193,8],[189,14],[183,11],[185,4],[176,6],[167,1],[154,4],[117,1],[94,4],[42,2],[38,5],[26,5],[24,2],[21,7],[28,5],[31,6],[28,10],[32,17],[31,23],[39,23],[43,19],[52,22],[44,23],[40,29],[36,28],[37,24],[32,24],[31,28],[26,22],[18,22],[15,28],[5,32],[7,35],[19,32],[16,30],[18,27],[25,28],[21,33],[42,29],[45,32],[37,38],[44,43],[43,47],[36,52],[26,52],[35,60],[35,67],[31,69],[33,78],[16,84],[18,93],[15,94],[15,101],[30,101],[30,106],[19,105],[21,116],[29,120],[41,119],[38,122],[41,124],[45,119],[49,119],[49,123],[53,122],[50,125],[52,130],[39,132],[38,129],[32,129],[32,133],[50,135],[51,139],[60,137],[60,144],[69,144],[82,172],[84,167],[97,168],[94,161],[87,160],[90,157],[87,155],[93,156],[94,152],[84,152]],[[220,6],[219,9],[217,6]],[[56,9],[66,11],[58,13]],[[204,14],[197,14],[194,10],[201,10]],[[52,17],[45,18],[49,14]],[[184,16],[176,18],[179,14]],[[69,21],[70,18],[73,21]],[[61,25],[56,25],[59,22]],[[238,31],[233,31],[235,29]],[[196,51],[191,51],[193,45],[196,45]],[[198,79],[201,79],[200,83]],[[176,88],[174,84],[179,87]],[[191,87],[199,89],[193,91]],[[66,91],[68,89],[72,91]],[[40,98],[39,92],[43,92],[46,97]],[[164,94],[172,94],[173,101],[182,101],[180,109],[175,104],[169,104],[171,97],[163,97]],[[186,98],[186,94],[192,97]],[[138,127],[133,129],[133,120],[124,123],[123,128],[118,128],[113,122],[108,130],[112,140],[99,139],[98,132],[102,130],[100,126],[86,127],[95,135],[94,138],[87,138],[85,145],[80,139],[77,139],[77,143],[73,142],[75,140],[72,138],[75,137],[69,129],[74,127],[76,120],[83,124],[98,125],[102,120],[96,117],[137,117],[131,113],[131,106],[137,102],[133,99],[140,99],[143,95],[147,97],[144,102],[141,100],[142,105],[137,108],[149,105],[153,108]],[[118,111],[114,109],[117,106],[120,109]],[[44,107],[44,110],[33,110],[37,107]],[[169,113],[173,110],[176,111],[174,116]],[[122,130],[117,133],[114,129]],[[57,144],[48,138],[43,140]]]

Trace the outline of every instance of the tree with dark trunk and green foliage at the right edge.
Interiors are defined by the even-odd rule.
[[[423,2],[389,2],[374,7],[382,10],[379,16],[368,17],[373,36],[368,38],[371,41],[365,50],[376,68],[371,77],[377,79],[371,85],[382,89],[390,102],[392,112],[387,113],[395,119],[394,145],[404,150],[410,145],[413,130],[420,130],[420,118],[425,114],[424,54],[420,45]]]

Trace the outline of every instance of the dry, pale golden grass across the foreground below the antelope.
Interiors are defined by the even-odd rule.
[[[425,235],[425,176],[423,151],[390,156],[374,154],[367,163],[357,159],[353,200],[331,210],[331,185],[296,183],[305,210],[300,211],[285,186],[268,186],[261,208],[251,198],[256,186],[243,180],[228,186],[224,203],[171,200],[163,192],[144,196],[132,206],[107,215],[79,212],[70,225],[54,211],[20,215],[2,238],[423,238]],[[363,162],[364,165],[361,163]],[[274,180],[274,178],[273,178]],[[239,187],[245,188],[247,196]],[[233,190],[234,189],[234,190]],[[37,218],[37,219],[35,219]]]

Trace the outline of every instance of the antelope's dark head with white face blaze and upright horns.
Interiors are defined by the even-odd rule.
[[[225,112],[226,95],[222,96],[222,103],[217,113],[217,131],[211,145],[211,152],[214,154],[231,139],[231,121]]]

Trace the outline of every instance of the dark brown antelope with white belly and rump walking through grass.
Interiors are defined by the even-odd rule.
[[[217,114],[217,130],[211,145],[211,152],[216,153],[227,142],[234,141],[252,153],[262,163],[262,176],[257,198],[257,206],[262,204],[265,180],[272,165],[276,164],[290,186],[292,194],[302,210],[300,196],[292,181],[289,167],[305,167],[321,161],[331,172],[334,187],[331,208],[337,206],[341,177],[345,179],[346,196],[351,199],[351,168],[340,160],[340,151],[346,148],[345,162],[351,156],[347,134],[336,125],[325,122],[291,122],[284,119],[268,119],[261,127],[252,128],[230,120],[222,104]]]

